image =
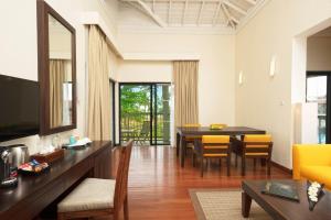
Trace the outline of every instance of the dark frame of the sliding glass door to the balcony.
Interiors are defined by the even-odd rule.
[[[149,138],[149,143],[150,145],[170,145],[167,143],[158,143],[158,108],[157,108],[157,92],[156,88],[158,85],[169,85],[171,86],[171,82],[169,81],[157,81],[157,82],[146,82],[146,81],[129,81],[129,82],[118,82],[118,128],[119,128],[119,144],[121,144],[121,86],[149,86],[150,87],[150,138]],[[156,135],[154,135],[156,134]],[[154,139],[153,139],[154,136]],[[171,140],[169,140],[171,143]]]

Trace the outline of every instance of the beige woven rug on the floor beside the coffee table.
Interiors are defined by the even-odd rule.
[[[197,220],[244,220],[242,216],[242,191],[235,189],[190,189]],[[254,200],[249,218],[271,220]]]

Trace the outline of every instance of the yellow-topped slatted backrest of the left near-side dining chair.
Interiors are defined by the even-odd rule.
[[[203,135],[201,142],[204,156],[227,156],[231,152],[229,135]]]

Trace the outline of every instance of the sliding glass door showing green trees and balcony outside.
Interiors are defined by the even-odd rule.
[[[119,84],[120,142],[170,144],[170,84]]]

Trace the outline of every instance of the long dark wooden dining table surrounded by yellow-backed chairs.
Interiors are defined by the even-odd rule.
[[[177,128],[177,155],[180,156],[181,167],[184,167],[185,161],[185,148],[186,139],[185,138],[196,138],[202,135],[245,135],[245,134],[265,134],[265,130],[248,128],[248,127],[225,127],[223,129],[211,129],[210,127],[199,127],[199,128],[188,128],[178,127]]]

